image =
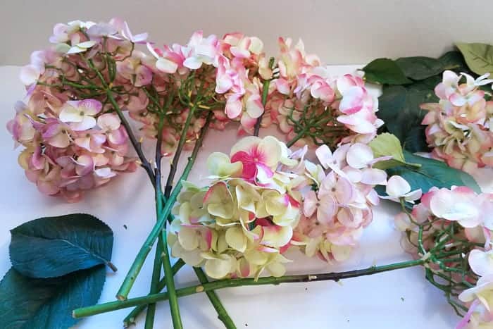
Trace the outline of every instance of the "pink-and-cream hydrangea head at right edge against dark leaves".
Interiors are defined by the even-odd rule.
[[[428,111],[422,124],[428,125],[432,156],[468,173],[493,166],[493,101],[486,101],[487,93],[480,89],[493,82],[487,77],[446,70],[435,88],[439,102],[421,106]]]

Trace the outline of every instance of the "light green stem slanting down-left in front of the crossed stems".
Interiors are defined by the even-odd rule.
[[[199,139],[197,139],[196,143],[199,144],[202,143],[205,132],[207,130],[206,127],[208,127],[209,123],[211,122],[211,118],[212,118],[212,112],[210,112],[209,115],[207,116],[206,124],[204,125],[205,129],[202,128],[201,135]],[[144,244],[142,244],[142,247],[140,248],[139,252],[137,253],[137,256],[135,257],[135,260],[132,263],[132,266],[130,266],[130,270],[125,276],[125,280],[123,280],[123,283],[120,286],[120,290],[118,290],[118,293],[116,294],[116,297],[118,299],[120,300],[127,299],[128,293],[130,292],[130,289],[132,289],[132,285],[135,283],[135,279],[137,278],[137,275],[142,269],[142,265],[144,264],[147,255],[151,251],[154,242],[156,242],[158,235],[161,234],[161,232],[164,232],[164,234],[166,235],[166,231],[163,230],[164,223],[166,222],[166,218],[171,213],[171,209],[175,204],[175,200],[178,194],[180,194],[182,190],[182,181],[188,178],[188,175],[192,170],[192,166],[194,165],[196,155],[198,152],[199,152],[199,148],[197,147],[196,149],[194,149],[194,152],[192,152],[192,155],[189,156],[187,166],[185,166],[185,169],[183,170],[180,180],[178,180],[176,187],[173,189],[173,192],[171,192],[170,194],[170,198],[164,205],[163,211],[161,212],[161,216],[158,218],[156,225],[154,225],[154,228],[152,228],[151,232],[149,233],[149,236],[144,241]]]

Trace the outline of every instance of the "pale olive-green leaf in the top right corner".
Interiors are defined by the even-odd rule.
[[[470,70],[478,75],[493,73],[493,46],[491,44],[456,43]]]

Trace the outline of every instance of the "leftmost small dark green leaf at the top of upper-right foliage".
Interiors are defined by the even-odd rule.
[[[380,85],[404,85],[411,83],[396,62],[389,58],[377,58],[363,68],[365,80]]]

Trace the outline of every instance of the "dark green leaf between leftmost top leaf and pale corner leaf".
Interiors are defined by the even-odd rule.
[[[423,80],[442,73],[442,62],[436,58],[415,56],[402,57],[395,61],[406,77],[413,80]]]

